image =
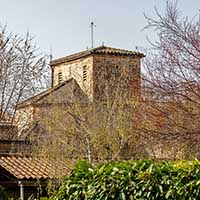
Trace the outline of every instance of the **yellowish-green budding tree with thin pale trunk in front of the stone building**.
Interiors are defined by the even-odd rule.
[[[126,76],[117,70],[117,76],[110,72],[112,77],[106,84],[102,78],[104,74],[100,72],[101,81],[97,87],[104,93],[98,94],[93,101],[73,92],[74,88],[78,91],[79,86],[72,87],[71,80],[63,83],[63,89],[57,93],[59,96],[52,94],[40,102],[38,122],[46,135],[44,139],[38,138],[36,151],[39,154],[57,159],[84,157],[91,163],[144,155],[145,150],[139,148],[140,135],[133,124],[139,100],[131,97],[132,90],[127,90],[124,79]]]

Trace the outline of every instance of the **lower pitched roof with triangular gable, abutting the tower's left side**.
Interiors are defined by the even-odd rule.
[[[51,96],[51,98],[49,100],[47,100],[47,97],[50,97],[50,95],[52,95],[53,93],[55,93],[58,90],[62,90],[65,86],[67,88],[65,88],[65,92],[62,95],[62,98],[56,98],[56,97]],[[48,103],[64,103],[64,101],[65,101],[65,103],[66,102],[71,103],[72,99],[75,100],[76,98],[77,99],[82,98],[81,100],[87,100],[86,94],[82,91],[82,89],[80,88],[80,86],[78,85],[76,80],[71,78],[53,88],[47,89],[46,91],[41,92],[40,94],[33,96],[33,97],[19,103],[17,105],[17,108],[23,108],[28,105],[44,104],[44,103],[46,103],[46,104],[48,104]]]

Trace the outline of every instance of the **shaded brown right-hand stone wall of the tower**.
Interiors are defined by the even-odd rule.
[[[111,97],[125,93],[140,97],[140,58],[136,56],[94,55],[94,96]],[[124,96],[125,97],[125,96]]]

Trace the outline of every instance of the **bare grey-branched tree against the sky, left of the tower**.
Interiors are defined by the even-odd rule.
[[[20,120],[15,118],[16,105],[47,86],[46,57],[38,52],[29,33],[20,36],[9,33],[6,26],[0,27],[1,124],[15,126]]]

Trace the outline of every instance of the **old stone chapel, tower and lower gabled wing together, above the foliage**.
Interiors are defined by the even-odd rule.
[[[107,101],[119,93],[124,99],[140,98],[143,57],[136,51],[99,46],[52,60],[51,87],[17,106],[20,128],[47,106],[83,99]]]

